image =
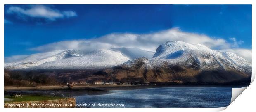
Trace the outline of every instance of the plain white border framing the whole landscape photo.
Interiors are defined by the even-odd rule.
[[[0,30],[0,50],[1,50],[1,55],[0,55],[0,70],[3,76],[4,73],[4,4],[252,4],[252,57],[255,56],[255,15],[256,15],[256,4],[254,0],[0,0],[0,23],[2,25],[1,30]],[[252,58],[252,81],[255,78],[255,62],[256,60]],[[1,78],[1,84],[0,87],[2,87],[2,90],[4,89],[4,78]],[[254,86],[255,87],[255,86]],[[241,89],[241,88],[240,88]],[[237,89],[238,90],[238,89]],[[232,89],[232,99],[237,98],[239,94],[235,95],[234,92],[241,92],[241,90],[244,90],[242,88],[241,90],[237,91],[236,89]],[[1,96],[4,96],[3,91],[0,93]],[[249,96],[250,97],[250,96]],[[251,96],[253,97],[253,96]],[[189,112],[211,112],[211,111],[220,111],[224,110],[227,107],[223,108],[111,108],[111,109],[106,109],[106,108],[86,108],[86,109],[81,109],[81,108],[59,108],[59,109],[53,109],[53,108],[40,108],[40,109],[27,109],[27,108],[3,108],[4,105],[4,98],[1,97],[1,102],[0,105],[2,105],[2,109],[4,112],[14,112],[14,111],[19,111],[19,112],[28,112],[28,111],[37,111],[37,112],[45,112],[48,110],[58,110],[62,112],[66,111],[102,111],[102,112],[113,112],[113,111],[122,111],[122,112],[131,112],[131,111],[189,111]],[[242,103],[242,102],[241,102]],[[239,108],[239,107],[235,107]]]

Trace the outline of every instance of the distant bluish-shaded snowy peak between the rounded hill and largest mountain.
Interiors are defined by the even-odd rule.
[[[130,59],[137,59],[141,57],[152,58],[154,52],[141,50],[139,48],[111,48],[110,50],[122,53]]]

